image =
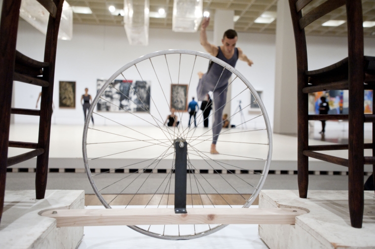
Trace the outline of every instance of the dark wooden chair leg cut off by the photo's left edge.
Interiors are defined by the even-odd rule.
[[[21,0],[3,1],[0,21],[0,221],[4,206],[10,108]],[[13,62],[13,63],[9,63]]]

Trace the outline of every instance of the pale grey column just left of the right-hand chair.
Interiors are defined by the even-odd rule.
[[[297,57],[288,0],[278,0],[273,132],[297,134]]]

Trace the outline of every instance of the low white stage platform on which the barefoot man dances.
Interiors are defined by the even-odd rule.
[[[320,123],[320,122],[319,122]],[[320,124],[319,124],[320,125]],[[332,126],[332,127],[331,127]],[[331,128],[330,128],[331,127]],[[121,134],[124,136],[129,136],[135,139],[145,139],[145,136],[142,134],[136,133],[133,130],[126,129],[122,126],[99,126],[96,125],[93,128],[103,131],[108,131],[115,134]],[[150,136],[156,136],[155,134],[160,133],[158,128],[151,126],[141,126],[135,127],[130,126],[137,131],[140,131],[144,134]],[[329,130],[332,129],[332,130]],[[335,124],[334,122],[329,122],[327,125],[327,139],[331,138],[330,136],[341,136],[343,128]],[[198,136],[204,134],[209,129],[203,127],[196,128],[196,131],[193,136]],[[64,172],[64,169],[76,169],[75,172],[84,172],[84,164],[82,158],[82,131],[83,125],[52,125],[51,127],[51,142],[50,142],[50,151],[49,151],[49,168],[60,169],[61,172]],[[224,130],[223,130],[224,131]],[[237,133],[244,131],[241,128],[232,129],[225,136],[222,135],[219,141],[237,141],[237,142],[267,142],[266,131],[257,131],[257,132],[245,132]],[[365,133],[365,140],[372,138],[371,133]],[[212,134],[212,131],[209,131],[207,134]],[[160,135],[160,134],[159,134]],[[319,135],[319,134],[318,134]],[[160,138],[164,135],[160,135]],[[346,135],[347,136],[347,135]],[[207,139],[206,137],[203,137]],[[209,138],[209,137],[208,137]],[[38,142],[38,125],[35,124],[14,124],[10,126],[9,140],[11,141],[23,141],[23,142]],[[123,137],[114,136],[108,133],[98,132],[90,130],[90,136],[88,137],[89,142],[112,142],[112,141],[122,141],[127,140]],[[280,134],[273,134],[273,153],[270,169],[272,171],[293,171],[297,170],[297,137],[285,136]],[[367,141],[366,142],[371,142]],[[230,146],[228,146],[230,144]],[[317,140],[309,140],[310,145],[317,144],[334,144],[332,142],[324,142]],[[137,146],[141,147],[145,144],[140,143]],[[147,145],[147,144],[146,144]],[[136,146],[136,147],[137,147]],[[208,152],[211,146],[211,140],[205,141],[197,145],[197,149],[201,151]],[[212,155],[206,153],[206,156],[220,160],[229,164],[236,164],[236,166],[246,168],[249,170],[263,170],[264,161],[253,160],[242,157],[233,157],[229,155],[244,155],[247,153],[249,157],[266,157],[266,146],[264,145],[249,145],[246,146],[243,143],[228,143],[228,142],[218,142],[217,149],[223,154]],[[134,144],[130,142],[121,142],[121,143],[105,143],[105,144],[91,144],[88,148],[88,157],[100,157],[104,155],[110,155],[108,157],[103,157],[98,160],[90,161],[91,169],[111,169],[116,168],[118,165],[123,165],[124,159],[126,159],[126,164],[134,164],[145,159],[150,159],[153,157],[160,156],[165,147],[163,146],[152,146],[145,147],[142,149],[134,149]],[[29,151],[30,149],[23,148],[12,148],[8,149],[8,156],[15,156],[24,152]],[[118,153],[121,151],[127,151],[124,153]],[[347,150],[336,150],[336,151],[323,151],[323,153],[338,156],[342,158],[347,158]],[[194,153],[193,153],[194,154]],[[196,153],[195,153],[196,154]],[[225,155],[226,154],[226,155]],[[372,151],[369,149],[365,150],[365,156],[371,156]],[[201,158],[194,155],[189,156],[190,161],[196,167],[196,169],[211,169],[211,167]],[[14,172],[17,172],[17,168],[30,169],[30,172],[34,172],[36,167],[36,158],[31,160],[16,164],[10,168],[14,168]],[[171,167],[173,160],[173,155],[167,156],[161,162],[155,166],[156,169],[169,169]],[[146,162],[148,163],[148,162]],[[212,163],[211,163],[212,164]],[[135,169],[141,169],[140,165],[135,165]],[[236,168],[227,167],[229,170],[235,170]],[[238,169],[237,169],[238,170]],[[309,171],[340,171],[346,173],[347,168],[339,165],[331,164],[328,162],[320,161],[314,158],[309,158]],[[372,165],[365,165],[365,172],[372,172]],[[212,171],[213,173],[213,171]]]

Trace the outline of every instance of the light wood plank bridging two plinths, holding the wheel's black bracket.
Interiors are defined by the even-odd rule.
[[[56,218],[57,227],[170,224],[295,224],[300,209],[72,209],[49,210],[42,216]]]

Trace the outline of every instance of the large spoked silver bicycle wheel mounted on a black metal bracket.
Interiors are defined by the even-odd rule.
[[[236,126],[215,134],[219,136],[217,147],[221,154],[210,154],[215,126],[202,127],[203,111],[196,113],[197,128],[192,120],[188,126],[188,95],[201,99],[202,91],[195,91],[197,72],[207,70],[210,63],[232,73],[224,88],[209,92],[214,109],[208,120],[212,121],[215,113],[224,109],[215,107],[215,103],[224,98],[231,86],[225,106],[230,104],[228,120]],[[257,113],[249,111],[253,106]],[[164,119],[172,107],[178,110],[180,123],[165,126]],[[96,126],[89,127],[93,115]],[[187,209],[252,205],[262,189],[272,154],[271,128],[264,105],[249,81],[233,67],[213,56],[189,50],[142,56],[116,71],[98,89],[84,125],[82,150],[88,179],[102,204],[106,208],[143,207],[145,212],[148,208],[173,208],[175,146],[179,142],[187,145]],[[102,170],[95,173],[95,169]],[[155,238],[180,240],[202,237],[225,225],[129,227]]]

